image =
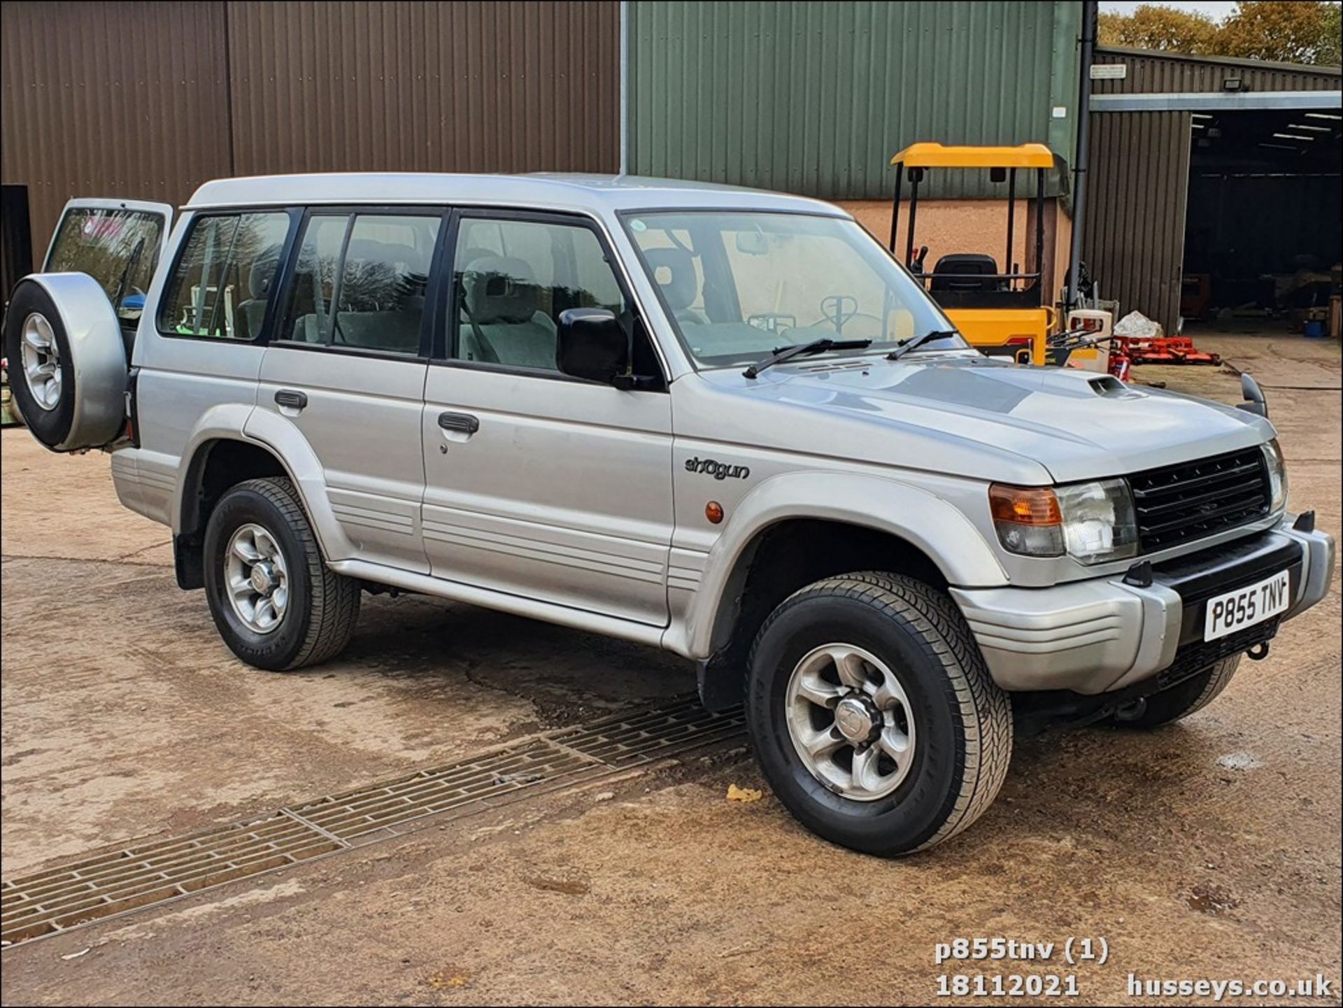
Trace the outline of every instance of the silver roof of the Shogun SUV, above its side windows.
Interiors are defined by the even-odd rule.
[[[510,205],[530,209],[774,209],[847,216],[829,203],[735,185],[635,174],[330,173],[219,179],[188,208],[326,204]]]

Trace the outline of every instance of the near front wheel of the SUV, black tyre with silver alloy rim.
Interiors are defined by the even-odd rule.
[[[932,847],[992,803],[1011,703],[960,611],[909,577],[854,573],[784,600],[751,655],[747,722],[779,800],[866,854]]]

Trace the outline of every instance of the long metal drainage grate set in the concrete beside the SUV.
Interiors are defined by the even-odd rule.
[[[740,711],[710,714],[694,698],[680,699],[521,740],[432,770],[282,808],[262,819],[133,843],[0,883],[0,941],[11,948],[399,836],[430,817],[465,817],[744,737]]]

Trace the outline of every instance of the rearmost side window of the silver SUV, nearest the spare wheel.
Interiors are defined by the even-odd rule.
[[[287,234],[287,213],[196,217],[160,303],[158,329],[177,336],[255,340],[274,294]]]

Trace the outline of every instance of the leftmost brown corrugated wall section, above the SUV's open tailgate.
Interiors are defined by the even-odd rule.
[[[223,39],[223,4],[0,5],[0,174],[28,187],[35,263],[71,196],[181,203],[228,174]]]

